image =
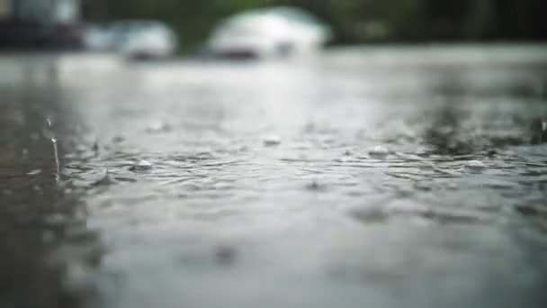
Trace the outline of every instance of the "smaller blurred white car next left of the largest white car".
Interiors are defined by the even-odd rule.
[[[129,58],[161,59],[176,50],[175,33],[157,21],[123,21],[112,24],[114,50]]]

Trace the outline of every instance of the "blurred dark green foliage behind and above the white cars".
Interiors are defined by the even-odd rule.
[[[93,1],[85,3],[84,18],[112,21],[153,17],[165,21],[189,46],[201,42],[221,18],[242,10],[293,5],[316,14],[331,25],[336,43],[371,41],[540,41],[545,40],[541,0],[330,1]]]

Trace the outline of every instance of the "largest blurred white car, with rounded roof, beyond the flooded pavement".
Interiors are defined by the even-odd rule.
[[[298,8],[274,7],[236,14],[221,22],[208,41],[218,57],[275,58],[318,50],[330,28]]]

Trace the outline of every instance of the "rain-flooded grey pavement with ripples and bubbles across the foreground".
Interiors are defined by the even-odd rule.
[[[2,79],[0,306],[543,307],[546,51]]]

